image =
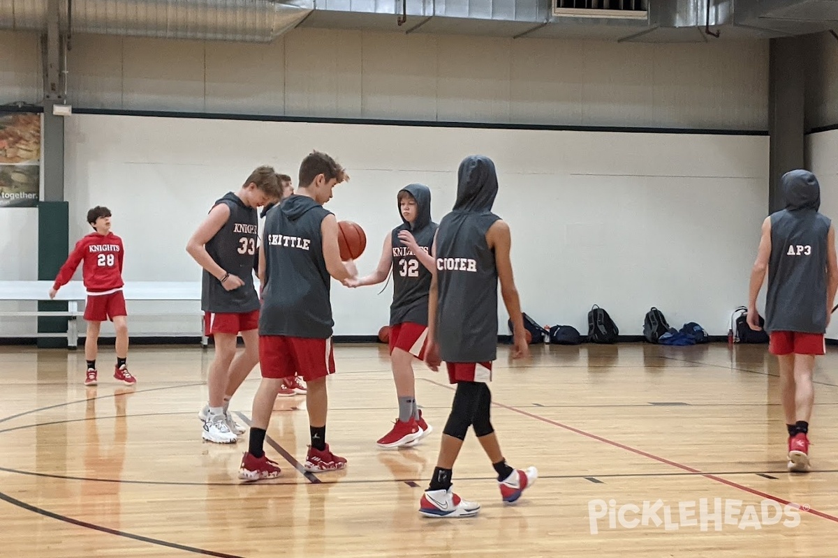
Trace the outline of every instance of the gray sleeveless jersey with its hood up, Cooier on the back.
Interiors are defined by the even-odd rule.
[[[469,156],[458,171],[457,202],[437,231],[437,344],[447,362],[494,361],[498,350],[498,269],[486,242],[499,220],[494,163]]]

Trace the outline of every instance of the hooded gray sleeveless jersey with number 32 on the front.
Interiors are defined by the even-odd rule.
[[[431,272],[422,265],[399,240],[401,231],[410,231],[420,248],[431,253],[433,235],[437,223],[431,221],[431,190],[423,184],[410,184],[402,188],[416,200],[416,220],[407,223],[404,218],[400,227],[391,233],[393,253],[393,302],[390,305],[390,325],[412,322],[427,325],[427,299],[431,290]],[[401,192],[401,191],[400,191]],[[399,205],[401,214],[401,205]]]

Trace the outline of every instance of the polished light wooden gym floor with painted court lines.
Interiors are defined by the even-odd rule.
[[[211,349],[133,346],[138,383],[127,388],[102,347],[88,388],[83,351],[2,347],[0,555],[834,557],[838,352],[815,374],[814,470],[789,474],[766,349],[538,346],[510,362],[500,347],[494,426],[508,462],[535,465],[539,479],[502,504],[469,433],[454,489],[483,509],[432,520],[416,509],[453,391],[444,372],[416,366],[435,431],[415,448],[378,449],[396,417],[384,346],[336,348],[327,438],[348,468],[297,469],[305,397],[279,398],[266,451],[282,477],[256,484],[236,476],[246,435],[201,440]],[[233,399],[239,422],[258,376]]]

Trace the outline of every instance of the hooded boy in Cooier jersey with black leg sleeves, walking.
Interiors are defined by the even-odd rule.
[[[422,494],[419,513],[427,517],[467,517],[480,505],[451,489],[454,462],[468,427],[498,474],[501,498],[511,504],[535,482],[535,467],[510,467],[500,451],[490,419],[492,361],[498,344],[498,281],[512,319],[513,358],[528,357],[524,320],[510,260],[510,227],[492,212],[498,193],[494,162],[468,156],[458,170],[457,202],[439,223],[433,257],[437,273],[428,303],[428,345],[425,360],[433,371],[446,361],[448,380],[457,385],[451,412],[442,431],[437,467]]]

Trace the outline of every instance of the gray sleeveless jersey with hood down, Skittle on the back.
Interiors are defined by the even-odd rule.
[[[267,212],[259,335],[332,336],[332,279],[323,259],[320,232],[323,219],[331,214],[311,197],[299,195],[287,197]]]

